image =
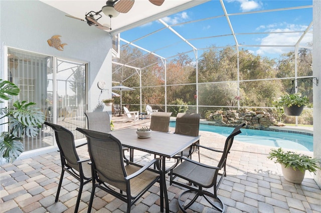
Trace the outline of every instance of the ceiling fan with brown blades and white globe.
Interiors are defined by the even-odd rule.
[[[161,6],[164,2],[164,0],[149,0],[152,4]],[[73,15],[66,15],[68,17],[76,18],[78,20],[86,21],[89,26],[96,26],[99,29],[111,29],[111,18],[116,17],[119,12],[126,13],[128,12],[132,5],[134,4],[135,0],[107,0],[106,5],[104,5],[101,10],[98,12],[90,11],[87,14],[85,14],[85,19],[75,17]],[[103,12],[105,15],[110,17],[110,27],[100,24],[97,20],[102,17],[100,12]],[[94,16],[98,16],[98,18],[95,18]]]

